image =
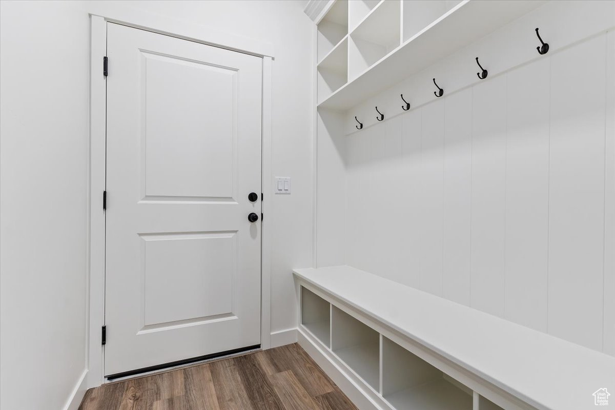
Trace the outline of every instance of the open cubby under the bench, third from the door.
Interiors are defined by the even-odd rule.
[[[405,409],[472,410],[472,390],[383,336],[382,395]]]

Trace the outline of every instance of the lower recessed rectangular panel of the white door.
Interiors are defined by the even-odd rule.
[[[236,310],[232,291],[237,232],[153,234],[141,239],[145,326],[207,320]],[[169,294],[182,297],[173,300]]]

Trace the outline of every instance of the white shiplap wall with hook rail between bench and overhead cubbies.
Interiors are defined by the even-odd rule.
[[[615,25],[613,5],[552,2],[344,116],[320,112],[334,118],[319,127],[318,265],[615,355],[615,33],[601,30]],[[544,56],[536,26],[551,42]],[[343,137],[330,132],[341,122]],[[346,180],[345,210],[328,205],[343,193],[322,174]]]

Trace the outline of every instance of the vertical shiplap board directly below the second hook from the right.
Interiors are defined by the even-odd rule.
[[[506,76],[475,85],[472,111],[470,306],[503,316]]]

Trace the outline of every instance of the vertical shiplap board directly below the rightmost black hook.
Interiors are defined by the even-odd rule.
[[[507,75],[504,317],[547,331],[549,71],[542,58]]]

